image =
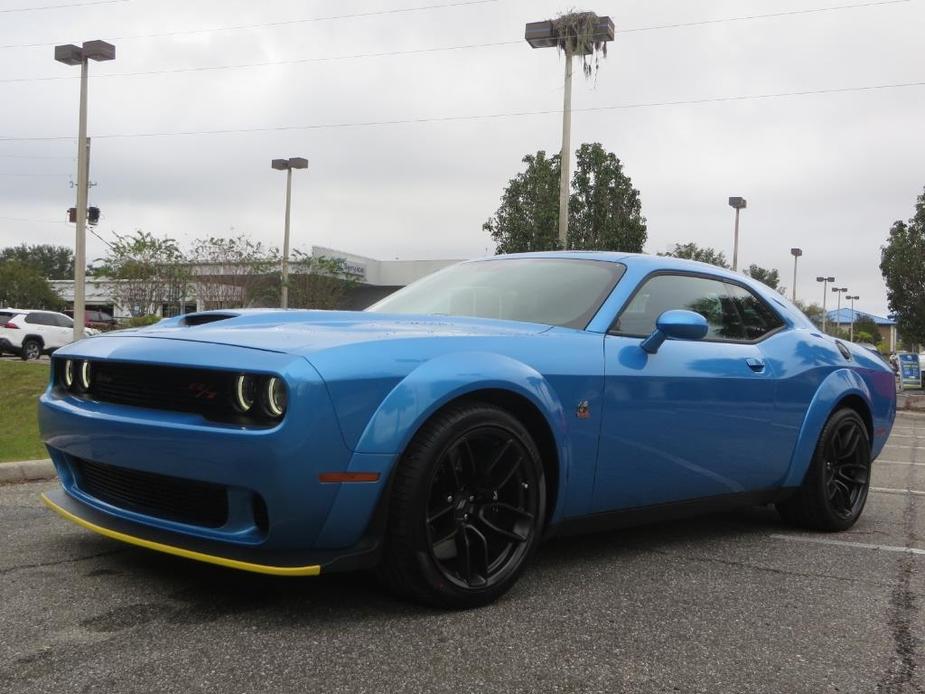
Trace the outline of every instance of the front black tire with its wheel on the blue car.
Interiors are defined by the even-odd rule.
[[[380,577],[431,605],[486,605],[519,578],[545,511],[543,464],[526,428],[493,405],[450,405],[395,471]]]

